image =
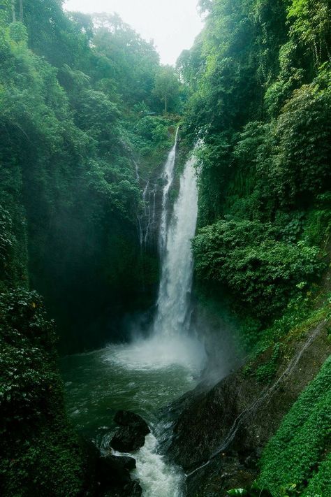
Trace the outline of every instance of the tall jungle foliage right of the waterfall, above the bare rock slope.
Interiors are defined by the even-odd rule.
[[[200,139],[196,273],[255,343],[329,264],[330,2],[200,8],[205,29],[177,62],[184,134]]]

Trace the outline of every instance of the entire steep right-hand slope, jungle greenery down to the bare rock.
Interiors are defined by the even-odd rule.
[[[195,292],[200,305],[232,316],[247,363],[179,401],[170,454],[191,473],[189,496],[234,487],[259,495],[249,487],[260,474],[265,495],[293,484],[289,494],[326,497],[330,2],[211,0],[200,8],[205,29],[177,64],[191,90],[186,141],[199,143]],[[314,398],[318,384],[325,395]],[[305,398],[314,402],[300,425]]]

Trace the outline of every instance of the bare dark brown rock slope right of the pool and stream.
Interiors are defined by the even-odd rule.
[[[173,405],[179,416],[168,454],[185,470],[187,496],[226,496],[228,489],[255,480],[265,443],[331,352],[326,324],[287,344],[270,384],[240,368]]]

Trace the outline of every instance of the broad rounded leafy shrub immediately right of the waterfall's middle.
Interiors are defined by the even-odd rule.
[[[260,316],[285,307],[296,285],[303,289],[321,273],[317,247],[285,243],[274,238],[270,224],[219,221],[193,240],[199,278],[231,290]]]

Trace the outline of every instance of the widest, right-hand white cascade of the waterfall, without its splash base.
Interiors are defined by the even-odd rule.
[[[186,162],[168,230],[165,235],[161,233],[166,250],[161,252],[162,275],[154,321],[156,336],[178,336],[189,331],[193,275],[191,238],[196,232],[198,216],[195,164],[194,156]],[[162,219],[166,219],[166,205],[163,210]]]

